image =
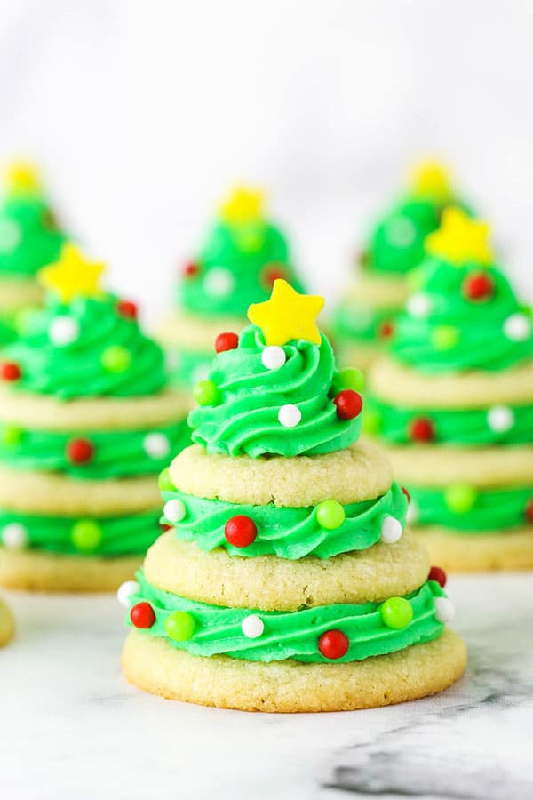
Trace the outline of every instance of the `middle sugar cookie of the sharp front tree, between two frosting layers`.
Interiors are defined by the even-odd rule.
[[[211,605],[297,611],[302,606],[379,603],[407,595],[429,573],[426,549],[409,533],[394,544],[322,560],[289,561],[275,556],[228,556],[218,548],[204,553],[173,531],[149,548],[144,570],[157,588]]]

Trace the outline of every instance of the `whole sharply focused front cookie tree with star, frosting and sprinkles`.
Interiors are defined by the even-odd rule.
[[[361,375],[336,370],[321,308],[276,280],[196,389],[196,444],[161,479],[172,529],[119,590],[123,669],[149,692],[341,710],[438,692],[465,668],[444,575],[404,532],[382,452],[357,442]]]

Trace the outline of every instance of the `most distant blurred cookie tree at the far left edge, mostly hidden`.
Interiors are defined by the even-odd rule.
[[[63,241],[36,170],[12,164],[0,206],[0,344],[15,338],[20,312],[43,300],[36,273],[58,257]]]

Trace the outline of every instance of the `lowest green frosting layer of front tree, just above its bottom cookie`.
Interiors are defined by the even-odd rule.
[[[435,598],[445,596],[434,580],[428,580],[407,596],[413,618],[405,628],[387,628],[379,611],[380,604],[365,603],[321,605],[297,612],[261,612],[244,608],[226,608],[196,603],[185,597],[165,592],[148,583],[139,572],[139,592],[131,596],[131,604],[147,601],[155,611],[155,624],[143,631],[145,636],[164,638],[172,647],[196,656],[223,653],[249,661],[294,659],[306,663],[331,663],[318,649],[319,637],[337,629],[347,636],[346,655],[335,663],[367,659],[429,642],[442,635],[442,622],[435,617]],[[191,638],[176,641],[167,635],[165,622],[171,612],[187,612],[195,620]],[[257,638],[244,636],[241,625],[250,614],[264,623]],[[131,624],[131,622],[130,622]]]

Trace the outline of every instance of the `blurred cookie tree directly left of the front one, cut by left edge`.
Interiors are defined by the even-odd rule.
[[[65,244],[50,290],[0,364],[0,582],[104,590],[160,532],[155,475],[189,441],[187,396],[135,304]]]

